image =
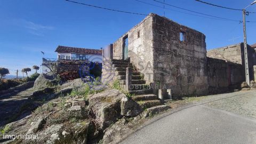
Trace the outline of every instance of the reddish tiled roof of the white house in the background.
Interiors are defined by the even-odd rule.
[[[77,54],[97,54],[97,55],[101,55],[102,54],[102,50],[85,49],[85,48],[60,46],[60,45],[57,47],[55,52],[77,53]]]

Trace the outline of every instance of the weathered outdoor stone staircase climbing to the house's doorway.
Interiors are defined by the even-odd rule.
[[[164,105],[163,100],[158,99],[157,95],[153,94],[153,90],[149,89],[149,85],[146,85],[146,81],[142,79],[140,72],[133,69],[129,60],[113,60],[112,65],[114,65],[119,82],[123,85],[126,81],[126,67],[132,68],[132,82],[129,92],[134,95],[132,99],[139,103],[141,109],[147,110],[150,114],[156,114],[170,108]]]

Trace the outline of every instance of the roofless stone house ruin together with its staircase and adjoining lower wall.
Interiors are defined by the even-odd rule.
[[[207,58],[204,34],[153,13],[103,49],[102,56],[102,81],[119,79],[134,94],[204,95],[227,91],[245,79],[242,57],[239,62]]]

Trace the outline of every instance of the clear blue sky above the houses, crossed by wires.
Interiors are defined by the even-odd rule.
[[[110,9],[164,14],[164,10],[135,0],[74,0]],[[140,0],[157,6],[153,0]],[[164,1],[164,0],[158,0]],[[205,0],[237,9],[249,5],[252,0]],[[180,6],[218,17],[242,20],[242,12],[220,9],[194,0],[165,0],[165,3]],[[196,17],[165,5],[165,17],[182,25],[194,28],[206,35],[207,50],[243,42],[243,25],[239,22]],[[174,10],[174,11],[172,11]],[[256,12],[256,4],[249,11]],[[187,12],[191,13],[191,12]],[[41,65],[42,57],[56,58],[58,45],[100,49],[113,43],[126,31],[146,16],[118,13],[63,0],[0,0],[0,67],[15,69]],[[256,13],[247,16],[256,21]],[[256,23],[247,23],[247,42],[256,43]],[[45,55],[41,54],[45,52]],[[34,73],[32,71],[30,74]],[[19,75],[22,75],[21,73]]]

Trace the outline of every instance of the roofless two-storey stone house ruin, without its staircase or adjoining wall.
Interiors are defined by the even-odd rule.
[[[205,35],[157,14],[149,14],[113,44],[113,59],[130,61],[146,84],[163,93],[208,92]]]

